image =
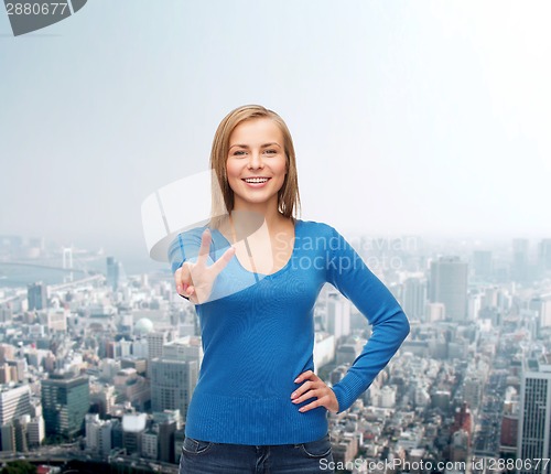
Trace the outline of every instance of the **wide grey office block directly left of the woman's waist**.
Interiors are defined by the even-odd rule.
[[[151,409],[179,409],[183,417],[197,385],[197,360],[154,358],[151,360]]]

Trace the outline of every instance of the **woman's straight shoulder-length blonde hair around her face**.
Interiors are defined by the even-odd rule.
[[[262,106],[241,106],[231,110],[222,120],[213,140],[210,151],[210,169],[213,170],[213,205],[210,225],[218,227],[222,218],[234,209],[234,191],[229,186],[226,161],[229,152],[229,138],[237,126],[259,118],[269,118],[276,122],[283,134],[283,147],[287,157],[287,174],[283,185],[278,193],[278,211],[284,216],[293,218],[300,209],[299,177],[293,139],[283,119],[272,110]]]

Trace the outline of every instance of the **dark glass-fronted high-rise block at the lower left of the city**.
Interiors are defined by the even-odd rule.
[[[90,406],[88,378],[54,374],[42,381],[42,407],[47,434],[72,438],[84,428]]]

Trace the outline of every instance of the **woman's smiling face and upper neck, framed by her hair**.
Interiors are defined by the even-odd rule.
[[[272,119],[246,120],[234,129],[226,173],[235,209],[277,209],[287,169],[283,133]]]

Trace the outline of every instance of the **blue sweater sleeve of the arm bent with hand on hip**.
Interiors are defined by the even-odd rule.
[[[333,386],[338,413],[366,391],[410,332],[408,317],[387,287],[334,228],[327,252],[327,281],[372,325],[371,336],[341,381]]]

